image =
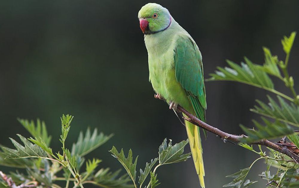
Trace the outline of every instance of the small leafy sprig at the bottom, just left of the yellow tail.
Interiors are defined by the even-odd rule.
[[[147,176],[150,174],[150,181],[146,188],[154,188],[157,187],[160,183],[158,183],[157,180],[157,174],[156,170],[158,167],[165,165],[165,164],[173,164],[178,163],[181,161],[186,161],[191,153],[185,153],[184,154],[184,148],[189,143],[188,140],[181,141],[179,143],[176,143],[175,145],[172,145],[172,141],[170,140],[167,144],[167,139],[165,138],[162,144],[159,147],[158,150],[158,158],[152,159],[150,163],[146,163],[144,170],[140,169],[140,176],[139,178],[139,187],[142,187],[142,184],[146,180]],[[120,164],[123,165],[124,169],[126,169],[129,177],[131,178],[134,187],[137,188],[137,184],[135,182],[136,177],[136,164],[137,164],[137,158],[135,158],[135,161],[133,163],[133,153],[132,150],[129,150],[129,154],[127,158],[124,155],[123,149],[118,152],[116,147],[112,147],[112,149],[109,151],[112,153],[112,156],[117,158]],[[151,169],[154,167],[156,162],[159,161],[159,164],[157,164],[153,171]]]

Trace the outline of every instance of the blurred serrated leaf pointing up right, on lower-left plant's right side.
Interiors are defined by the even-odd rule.
[[[80,132],[77,143],[73,144],[72,155],[84,156],[104,144],[112,136],[113,134],[109,136],[104,135],[103,132],[98,134],[97,129],[94,129],[91,135],[90,129],[88,128],[85,133],[85,137],[83,137],[83,132]]]

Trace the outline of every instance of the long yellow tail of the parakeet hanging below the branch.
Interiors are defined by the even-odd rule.
[[[184,115],[184,114],[183,114]],[[186,115],[184,115],[186,117]],[[199,127],[190,123],[189,121],[185,121],[187,135],[189,138],[189,144],[191,148],[191,153],[196,169],[196,173],[199,178],[199,183],[202,188],[205,188],[205,169],[204,169],[204,161],[202,158],[202,142],[199,135]]]

